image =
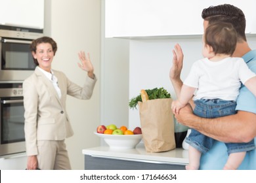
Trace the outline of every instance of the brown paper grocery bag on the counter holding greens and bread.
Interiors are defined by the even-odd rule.
[[[146,152],[164,152],[175,148],[172,99],[139,102],[140,125]]]

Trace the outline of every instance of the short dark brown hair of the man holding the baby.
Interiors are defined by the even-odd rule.
[[[215,22],[227,22],[233,25],[238,34],[238,41],[246,41],[245,37],[245,16],[244,12],[233,5],[217,5],[205,8],[202,11],[202,18],[213,24]]]

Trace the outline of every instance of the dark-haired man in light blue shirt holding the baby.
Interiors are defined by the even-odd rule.
[[[232,5],[218,5],[205,8],[202,12],[203,27],[213,22],[229,22],[237,33],[238,42],[233,57],[242,57],[251,71],[256,73],[256,50],[251,50],[245,37],[245,16],[242,10]],[[175,46],[173,66],[170,71],[170,79],[179,97],[182,80],[180,78],[183,54],[179,44]],[[194,104],[191,103],[192,107]],[[175,115],[183,125],[194,128],[204,135],[217,141],[211,150],[203,154],[200,169],[223,169],[228,158],[226,146],[223,142],[249,142],[256,136],[256,98],[242,86],[237,99],[237,114],[221,118],[200,118],[192,113],[192,108],[186,106]],[[256,169],[256,152],[248,152],[238,169]]]

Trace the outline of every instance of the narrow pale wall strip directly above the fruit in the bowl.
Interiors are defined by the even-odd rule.
[[[117,127],[128,126],[129,40],[104,37],[104,1],[102,1],[100,123],[116,124]]]

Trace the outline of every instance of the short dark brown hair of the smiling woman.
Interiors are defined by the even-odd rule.
[[[41,43],[50,43],[53,47],[53,54],[55,55],[57,51],[57,43],[51,37],[40,37],[38,39],[33,40],[32,43],[30,44],[30,51],[35,53],[37,50],[37,45]],[[39,65],[37,59],[33,58],[33,61],[35,65]]]

